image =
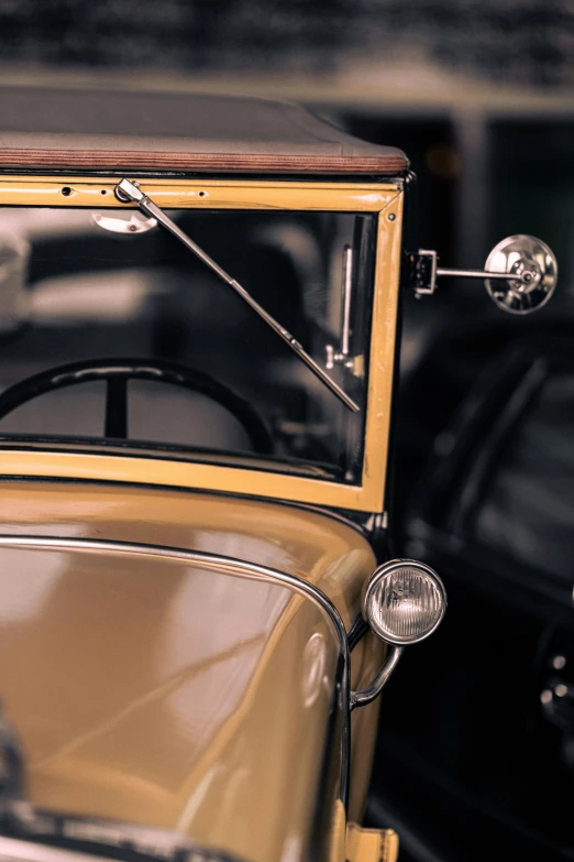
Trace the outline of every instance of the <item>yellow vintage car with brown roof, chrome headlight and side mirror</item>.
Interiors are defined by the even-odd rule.
[[[405,154],[289,103],[0,114],[0,859],[393,862],[376,698],[446,604],[390,552],[399,288],[523,314],[552,252],[405,257]]]

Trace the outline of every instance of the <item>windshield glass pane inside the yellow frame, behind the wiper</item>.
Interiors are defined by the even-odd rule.
[[[356,483],[376,215],[167,214],[358,411],[205,263],[133,209],[5,208],[0,434],[108,451],[159,447],[163,457],[217,463],[247,459],[254,469]],[[49,374],[69,363],[81,364]]]

